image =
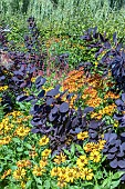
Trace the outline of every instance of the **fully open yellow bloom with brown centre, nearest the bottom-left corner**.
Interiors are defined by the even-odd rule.
[[[13,178],[15,180],[21,180],[24,176],[25,176],[27,171],[25,169],[22,168],[18,168],[17,170],[14,170],[13,172]]]

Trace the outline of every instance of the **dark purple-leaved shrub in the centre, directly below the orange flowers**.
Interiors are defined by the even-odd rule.
[[[52,90],[45,91],[41,87],[45,83],[45,79],[38,77],[35,80],[35,88],[38,89],[38,96],[20,94],[18,101],[31,101],[32,108],[30,113],[32,115],[32,132],[46,135],[51,142],[51,149],[53,153],[61,151],[63,148],[70,149],[72,142],[82,145],[82,141],[77,140],[76,135],[81,131],[88,131],[88,141],[96,142],[104,130],[108,130],[111,126],[105,126],[103,121],[87,120],[86,115],[94,109],[86,107],[84,110],[74,110],[70,108],[70,97],[72,93],[66,91],[61,92],[60,86],[56,86]],[[62,97],[66,94],[69,102],[62,100]],[[40,100],[42,100],[40,102]]]

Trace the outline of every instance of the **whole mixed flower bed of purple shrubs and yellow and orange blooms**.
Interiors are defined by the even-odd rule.
[[[73,68],[67,52],[50,53],[33,17],[28,27],[23,49],[0,29],[1,189],[124,188],[122,41],[88,29]]]

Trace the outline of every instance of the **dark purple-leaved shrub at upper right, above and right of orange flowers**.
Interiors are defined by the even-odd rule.
[[[116,88],[125,91],[125,49],[123,48],[122,40],[117,40],[116,32],[113,34],[113,44],[106,38],[106,33],[101,34],[97,32],[97,27],[94,29],[90,28],[81,39],[86,41],[88,49],[95,49],[95,59],[104,52],[100,60],[98,69],[104,74],[111,70],[116,81]]]

